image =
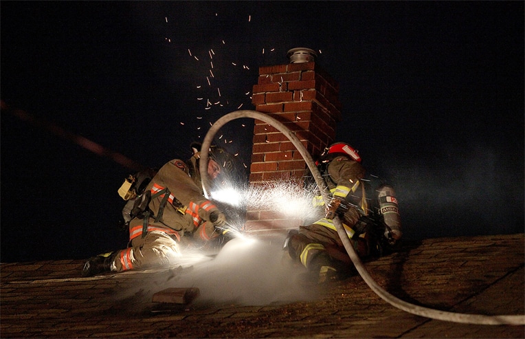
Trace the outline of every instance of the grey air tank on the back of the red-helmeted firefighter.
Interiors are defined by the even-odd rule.
[[[393,241],[401,239],[401,218],[399,217],[399,207],[397,205],[396,193],[394,188],[388,184],[383,184],[377,188],[379,200],[379,215],[383,217],[386,225],[385,237]]]

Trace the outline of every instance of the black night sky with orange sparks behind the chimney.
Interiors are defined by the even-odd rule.
[[[254,109],[258,67],[294,47],[339,83],[337,139],[394,185],[405,239],[524,232],[523,1],[2,1],[0,14],[1,262],[124,248],[117,190],[133,170],[108,152],[186,159],[210,122]],[[218,140],[247,165],[252,126]]]

